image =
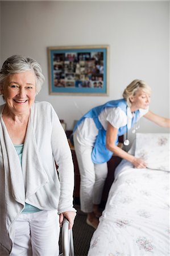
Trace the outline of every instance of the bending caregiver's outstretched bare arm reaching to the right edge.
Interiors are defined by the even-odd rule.
[[[151,122],[156,123],[156,125],[159,125],[161,127],[170,127],[170,119],[165,117],[160,117],[160,115],[156,115],[151,111],[148,111],[145,115],[145,118],[150,120]]]

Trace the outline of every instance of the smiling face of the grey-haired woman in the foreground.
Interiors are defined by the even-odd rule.
[[[26,71],[8,76],[3,85],[3,95],[9,110],[14,113],[27,113],[35,100],[36,77]]]

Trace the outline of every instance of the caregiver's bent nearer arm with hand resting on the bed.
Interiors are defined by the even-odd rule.
[[[122,150],[122,148],[115,145],[117,140],[118,129],[113,127],[109,122],[107,123],[107,131],[106,131],[106,147],[110,151],[112,151],[115,155],[120,158],[126,159],[128,162],[134,164],[136,168],[146,168],[146,163],[140,159],[135,158],[135,156],[128,154],[126,151]]]

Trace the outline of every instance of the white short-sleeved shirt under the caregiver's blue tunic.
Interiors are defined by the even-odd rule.
[[[148,112],[148,109],[139,109],[138,120]],[[127,125],[127,128],[131,128],[131,121],[133,113],[129,107],[127,107],[127,114],[119,107],[117,108],[105,108],[99,114],[98,119],[105,130],[107,130],[107,123],[109,122],[113,127],[119,129],[122,126]],[[138,121],[137,120],[137,121]],[[93,121],[93,118],[85,118],[77,127],[76,136],[81,144],[93,146],[98,135],[98,129]]]

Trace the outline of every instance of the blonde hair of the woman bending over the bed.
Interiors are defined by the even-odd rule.
[[[130,97],[135,96],[138,90],[143,90],[147,94],[151,94],[151,88],[146,84],[146,82],[138,79],[132,81],[129,85],[127,85],[123,92],[123,98],[126,100],[128,106],[131,106]]]

